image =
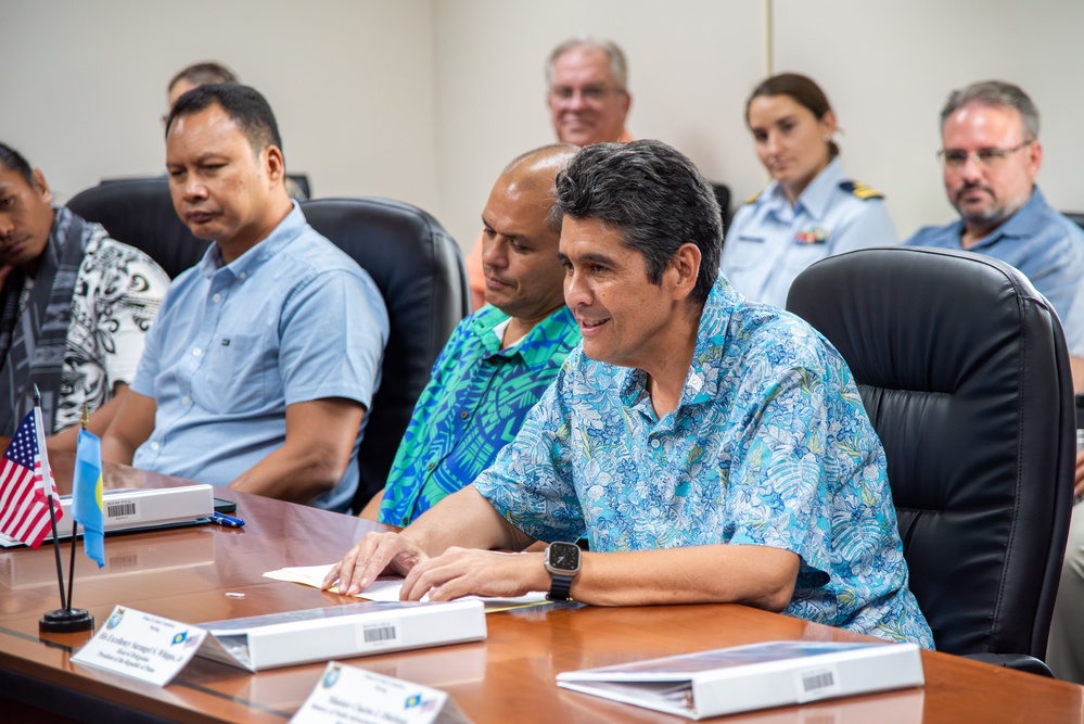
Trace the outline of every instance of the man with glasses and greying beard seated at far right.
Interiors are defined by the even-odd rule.
[[[953,91],[941,111],[945,192],[960,218],[919,229],[910,246],[962,249],[1020,269],[1054,305],[1084,390],[1084,231],[1035,186],[1038,110],[1028,93],[985,80]]]

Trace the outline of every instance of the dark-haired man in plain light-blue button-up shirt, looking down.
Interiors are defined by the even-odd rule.
[[[251,88],[201,86],[174,105],[174,205],[215,243],[170,287],[103,456],[345,511],[387,312],[290,201],[280,147]]]

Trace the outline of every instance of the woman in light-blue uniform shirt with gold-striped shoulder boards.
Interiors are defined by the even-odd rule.
[[[722,270],[739,292],[783,307],[794,277],[814,262],[896,243],[882,195],[844,176],[836,113],[816,82],[771,76],[749,97],[745,123],[773,181],[727,230]]]

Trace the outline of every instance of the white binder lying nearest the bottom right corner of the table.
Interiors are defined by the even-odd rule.
[[[567,671],[557,685],[688,719],[922,686],[915,644],[766,642]]]

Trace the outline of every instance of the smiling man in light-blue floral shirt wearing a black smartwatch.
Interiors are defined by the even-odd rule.
[[[583,347],[473,486],[369,533],[324,585],[387,569],[405,599],[741,602],[931,648],[851,372],[716,279],[719,211],[692,163],[659,141],[590,145],[557,192]],[[553,543],[492,550],[536,541]]]

